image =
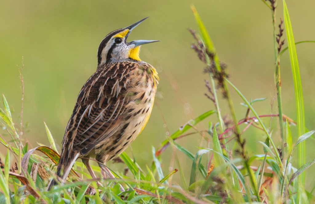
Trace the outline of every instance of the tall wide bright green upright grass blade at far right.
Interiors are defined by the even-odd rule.
[[[305,133],[305,116],[304,116],[304,104],[303,104],[303,93],[300,77],[299,63],[297,60],[295,42],[293,37],[293,31],[291,26],[291,21],[289,17],[289,11],[285,0],[283,0],[283,13],[284,13],[284,25],[285,32],[287,35],[287,42],[289,48],[289,56],[294,84],[294,95],[295,95],[295,108],[296,108],[296,119],[297,119],[297,134],[303,135]],[[301,167],[305,163],[305,142],[301,142],[298,146],[298,166]],[[305,173],[301,172],[298,177],[298,182],[300,186],[304,188],[305,186]],[[296,201],[300,201],[301,190],[298,186],[295,185]]]

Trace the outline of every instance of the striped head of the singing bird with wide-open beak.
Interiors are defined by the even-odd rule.
[[[148,17],[106,35],[100,43],[97,51],[98,65],[126,59],[140,61],[140,46],[143,44],[158,42],[159,40],[133,40],[131,42],[127,42],[127,38],[130,32],[147,18]]]

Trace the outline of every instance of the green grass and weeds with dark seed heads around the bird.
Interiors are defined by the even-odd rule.
[[[306,162],[305,142],[311,140],[315,131],[306,132],[300,71],[295,50],[295,44],[298,43],[294,41],[289,12],[283,2],[285,41],[288,48],[281,49],[282,44],[279,44],[275,30],[276,7],[273,3],[277,2],[263,2],[272,12],[277,114],[260,115],[254,107],[256,102],[264,102],[265,98],[249,100],[249,96],[244,96],[242,90],[234,85],[232,81],[235,79],[228,79],[226,65],[219,61],[214,43],[196,8],[192,6],[200,31],[200,34],[192,32],[197,41],[194,50],[198,52],[209,72],[208,94],[215,110],[204,110],[203,114],[187,121],[169,137],[161,139],[159,144],[152,144],[155,147],[148,153],[152,162],[144,166],[136,162],[137,158],[131,158],[123,152],[120,162],[125,170],[122,168],[112,171],[116,179],[94,180],[78,160],[66,183],[47,191],[46,186],[49,179],[54,177],[55,166],[59,161],[54,137],[44,123],[50,145],[38,144],[35,148],[29,148],[23,142],[27,138],[21,138],[23,128],[19,125],[22,125],[22,114],[20,124],[15,122],[18,119],[12,118],[9,102],[3,96],[3,108],[0,108],[3,133],[0,134],[0,143],[7,152],[1,158],[0,203],[313,203],[315,186],[306,188],[305,170],[315,163],[315,159]],[[282,35],[278,37],[284,39]],[[296,122],[290,116],[282,115],[280,57],[286,50],[289,51],[295,88]],[[23,78],[21,80],[23,86]],[[229,87],[236,93],[236,98],[232,98]],[[223,96],[222,99],[219,99],[220,95]],[[237,116],[234,111],[233,103],[238,97],[243,100],[241,105],[247,108],[242,117]],[[221,108],[225,104],[223,101],[226,101],[230,110],[228,117],[221,115]],[[211,115],[216,118],[212,116],[210,120]],[[262,118],[268,117],[279,118],[276,127],[279,132],[267,128],[270,121]],[[201,131],[196,126],[200,122],[208,122],[207,131]],[[291,127],[295,125],[297,137],[291,132]],[[256,149],[253,154],[249,153],[247,138],[243,134],[249,127],[260,131],[256,137],[259,138],[257,144],[261,148]],[[193,150],[180,144],[181,138],[190,134],[202,136],[200,145]],[[173,151],[169,154],[166,149]],[[294,156],[296,149],[297,158]],[[169,157],[172,158],[172,164],[163,160]],[[187,166],[182,166],[184,160],[192,163],[188,169]],[[100,169],[96,165],[91,166],[100,175]],[[174,169],[163,171],[162,166],[174,166]],[[189,171],[189,178],[185,178],[184,169]],[[181,185],[173,180],[174,176],[181,178]],[[100,182],[102,186],[97,186],[96,182]],[[123,187],[123,192],[120,186]],[[95,194],[90,195],[89,192],[93,189]]]

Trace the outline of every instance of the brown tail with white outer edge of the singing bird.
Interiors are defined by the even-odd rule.
[[[57,166],[56,170],[56,178],[60,181],[61,184],[65,183],[66,178],[68,177],[68,174],[74,164],[74,162],[79,157],[79,153],[74,152],[67,152],[68,154],[65,154],[65,152],[61,152],[60,160]],[[50,180],[47,190],[50,190],[54,185],[57,184],[57,181],[53,178]]]

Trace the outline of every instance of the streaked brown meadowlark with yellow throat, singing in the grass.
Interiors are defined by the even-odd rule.
[[[85,82],[66,125],[56,178],[63,184],[81,158],[97,179],[89,158],[95,158],[103,177],[113,177],[106,162],[119,156],[146,126],[159,77],[140,59],[140,46],[159,40],[127,42],[130,32],[148,17],[110,32],[97,51],[97,69]],[[50,180],[47,189],[58,183]]]

